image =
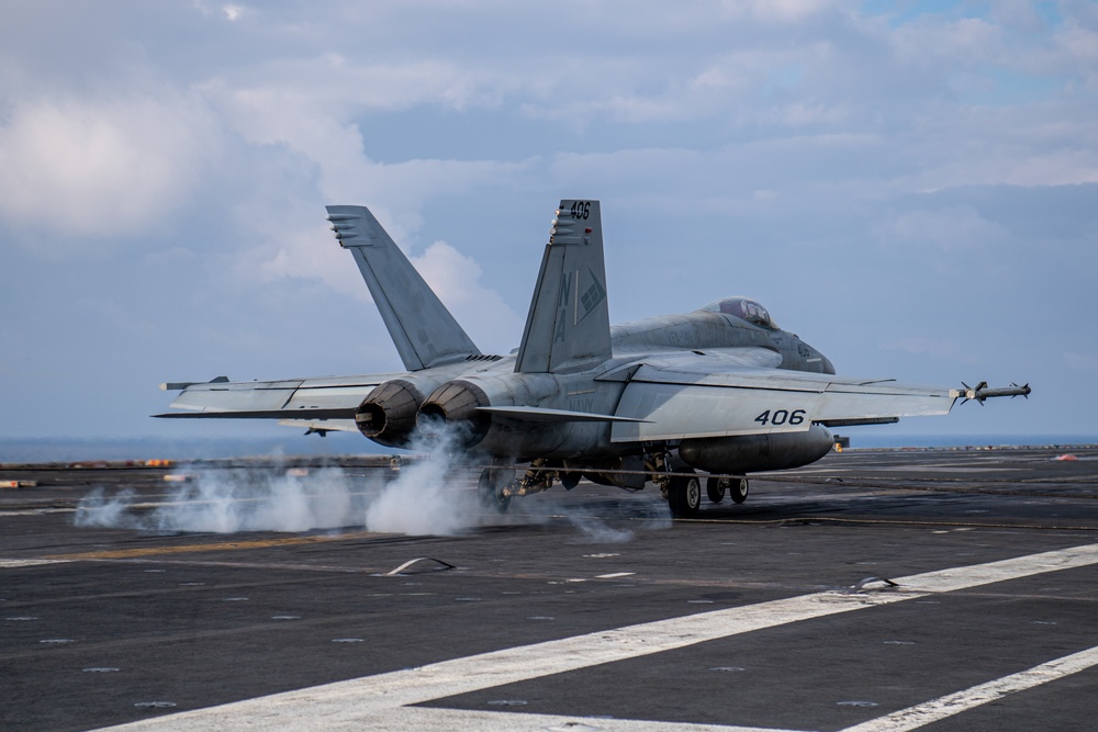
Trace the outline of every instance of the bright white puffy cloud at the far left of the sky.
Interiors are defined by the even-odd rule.
[[[184,94],[24,100],[0,127],[0,216],[33,228],[23,241],[43,251],[87,251],[83,236],[155,233],[219,147],[215,121]]]

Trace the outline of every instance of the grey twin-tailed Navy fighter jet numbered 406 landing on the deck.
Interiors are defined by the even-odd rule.
[[[167,383],[180,391],[177,412],[155,416],[276,419],[321,435],[357,430],[395,448],[445,430],[472,464],[485,465],[480,492],[496,509],[585,477],[629,489],[652,483],[674,516],[688,517],[699,509],[702,477],[710,500],[727,492],[742,503],[747,474],[819,460],[833,447],[829,428],[1030,393],[838,376],[747,297],[612,326],[602,216],[590,200],[560,202],[519,347],[482,353],[368,209],[327,213],[405,370]]]

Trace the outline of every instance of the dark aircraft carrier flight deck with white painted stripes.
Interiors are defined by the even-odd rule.
[[[410,470],[394,468],[0,466],[25,486],[0,491],[0,728],[1028,731],[1098,718],[1096,447],[848,450],[755,475],[749,502],[705,500],[692,519],[672,519],[652,486],[585,485],[452,536],[147,521],[202,508],[184,491],[202,472],[307,485],[340,471],[355,499]],[[460,477],[446,491],[475,496],[475,471]],[[124,511],[89,520],[126,489]]]

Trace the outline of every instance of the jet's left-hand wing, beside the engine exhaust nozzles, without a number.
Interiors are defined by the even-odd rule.
[[[402,373],[292,379],[287,381],[228,381],[220,376],[203,383],[161,384],[182,391],[169,412],[154,417],[190,419],[354,420],[355,410],[378,384]]]

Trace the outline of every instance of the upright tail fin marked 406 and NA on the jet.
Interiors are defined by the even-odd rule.
[[[569,372],[610,358],[597,201],[561,201],[541,259],[515,371]]]

